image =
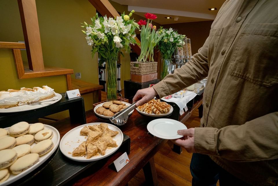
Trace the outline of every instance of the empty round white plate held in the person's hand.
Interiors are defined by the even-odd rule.
[[[174,140],[183,137],[182,135],[179,135],[177,131],[187,129],[187,127],[177,120],[160,118],[149,122],[147,129],[153,136]]]

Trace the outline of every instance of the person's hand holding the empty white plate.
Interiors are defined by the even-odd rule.
[[[178,134],[182,135],[183,137],[176,140],[171,140],[173,143],[184,147],[184,149],[189,153],[195,153],[194,147],[194,131],[195,128],[185,129],[185,130],[178,130]]]

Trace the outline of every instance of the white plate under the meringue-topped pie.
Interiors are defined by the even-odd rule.
[[[58,99],[58,100],[56,100]],[[56,103],[58,101],[60,101],[62,99],[62,95],[55,93],[55,96],[47,99],[47,100],[43,100],[43,102],[39,105],[21,105],[21,106],[14,106],[11,108],[7,108],[7,109],[0,109],[0,113],[10,113],[10,112],[22,112],[22,111],[30,111],[30,110],[34,110],[34,109],[39,109],[48,105],[51,105],[53,103]],[[51,100],[55,100],[55,101],[51,101]]]

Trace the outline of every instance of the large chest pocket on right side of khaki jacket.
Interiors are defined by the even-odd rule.
[[[278,83],[278,24],[246,24],[236,41],[229,73],[262,86]]]

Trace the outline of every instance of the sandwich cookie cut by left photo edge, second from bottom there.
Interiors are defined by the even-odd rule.
[[[13,149],[0,151],[0,170],[9,167],[17,160],[17,152]]]

